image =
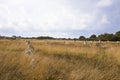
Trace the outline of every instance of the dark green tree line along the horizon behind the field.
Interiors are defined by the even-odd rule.
[[[92,34],[90,37],[85,37],[85,36],[80,36],[79,38],[54,38],[54,37],[49,37],[49,36],[39,36],[39,37],[21,37],[21,36],[15,36],[13,35],[12,37],[6,37],[6,36],[1,36],[0,39],[52,39],[52,40],[88,40],[88,41],[120,41],[120,31],[117,31],[115,34],[113,33],[104,33],[100,35],[95,35]]]

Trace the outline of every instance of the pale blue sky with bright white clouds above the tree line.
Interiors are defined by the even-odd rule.
[[[0,0],[0,35],[74,38],[120,30],[120,0]]]

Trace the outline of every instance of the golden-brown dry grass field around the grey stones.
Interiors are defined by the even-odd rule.
[[[30,40],[34,55],[26,55],[24,39],[0,40],[0,80],[120,80],[120,44]],[[34,65],[30,65],[34,58]]]

